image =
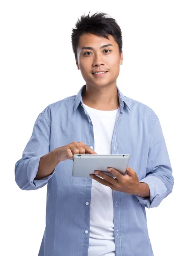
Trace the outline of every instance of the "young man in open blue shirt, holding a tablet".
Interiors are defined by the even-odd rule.
[[[39,114],[15,164],[20,189],[48,183],[38,256],[153,256],[145,207],[157,207],[173,189],[157,115],[116,85],[122,33],[105,15],[82,16],[76,23],[73,52],[86,84]],[[102,172],[91,179],[72,176],[73,154],[131,158],[125,176],[112,169],[116,179]]]

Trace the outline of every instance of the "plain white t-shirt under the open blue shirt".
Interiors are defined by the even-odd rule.
[[[101,111],[83,104],[93,124],[97,154],[111,154],[117,110]],[[113,195],[110,187],[92,179],[89,256],[115,256]]]

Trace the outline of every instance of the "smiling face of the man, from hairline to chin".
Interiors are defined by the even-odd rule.
[[[116,85],[116,79],[119,76],[119,65],[122,65],[123,55],[122,51],[121,56],[119,55],[119,47],[113,36],[108,35],[108,38],[110,40],[94,34],[84,34],[79,38],[76,65],[81,70],[81,75],[86,81],[86,85],[92,87]],[[102,47],[108,44],[111,45]],[[93,74],[101,70],[107,72],[102,75]]]

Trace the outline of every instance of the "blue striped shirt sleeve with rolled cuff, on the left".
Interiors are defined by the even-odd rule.
[[[43,111],[35,121],[32,136],[23,151],[22,158],[15,164],[15,181],[20,189],[39,189],[54,175],[56,168],[51,175],[41,180],[34,180],[41,157],[49,153],[49,140],[50,125]]]

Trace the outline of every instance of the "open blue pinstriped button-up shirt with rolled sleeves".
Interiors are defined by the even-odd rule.
[[[52,103],[35,121],[23,156],[15,164],[20,189],[47,184],[46,227],[38,256],[87,256],[90,231],[92,179],[72,176],[72,160],[58,163],[51,175],[34,180],[42,156],[54,148],[82,141],[94,148],[93,124],[83,106],[81,92]],[[116,256],[153,256],[145,207],[157,207],[173,189],[174,178],[160,121],[148,106],[124,96],[119,108],[111,154],[130,154],[129,166],[150,188],[142,198],[113,191]],[[89,202],[89,204],[85,204]]]

